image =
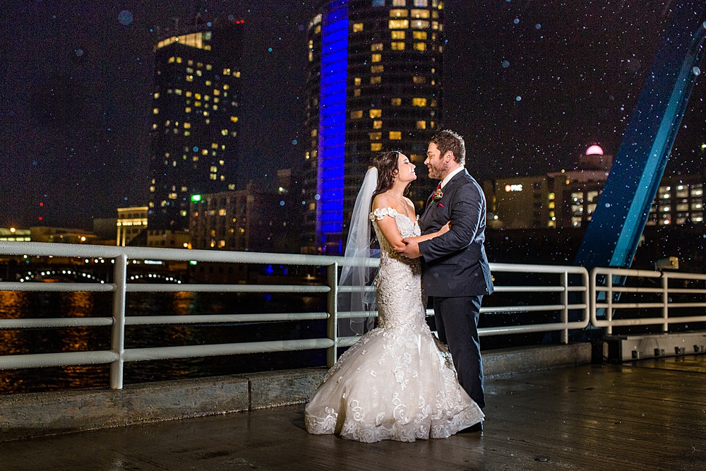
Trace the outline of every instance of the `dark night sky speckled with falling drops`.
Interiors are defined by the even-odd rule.
[[[145,205],[152,46],[195,3],[246,22],[240,150],[257,165],[239,186],[273,185],[277,168],[303,158],[306,25],[318,2],[6,1],[0,225],[90,229],[92,217]],[[570,169],[593,143],[616,153],[674,3],[446,1],[442,124],[465,136],[469,171]],[[703,171],[702,77],[671,172]]]

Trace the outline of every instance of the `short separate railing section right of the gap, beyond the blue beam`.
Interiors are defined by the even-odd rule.
[[[619,326],[661,325],[667,333],[674,324],[706,322],[706,275],[700,273],[594,268],[590,286],[591,323],[607,334]]]

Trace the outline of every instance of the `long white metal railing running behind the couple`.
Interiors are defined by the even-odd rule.
[[[26,292],[112,292],[111,316],[97,318],[22,318],[0,319],[0,329],[72,328],[111,326],[110,350],[88,352],[59,352],[44,354],[13,354],[0,356],[0,369],[22,369],[48,366],[110,364],[110,386],[122,388],[124,362],[143,360],[209,357],[229,354],[282,352],[295,350],[327,350],[327,363],[332,366],[337,358],[337,348],[352,345],[355,338],[337,337],[337,320],[349,317],[350,313],[339,313],[336,306],[337,272],[342,257],[313,256],[300,254],[261,254],[252,252],[160,249],[148,247],[85,246],[73,244],[43,244],[37,242],[0,242],[0,256],[64,256],[81,258],[106,258],[113,263],[112,283],[73,282],[0,282],[0,291]],[[138,284],[128,280],[128,262],[132,260],[198,261],[240,264],[277,264],[284,266],[316,266],[328,273],[321,285],[225,285],[169,283]],[[536,302],[513,302],[501,306],[486,306],[482,314],[546,313],[551,322],[526,323],[501,327],[480,328],[480,335],[506,335],[561,331],[561,341],[568,342],[568,330],[585,328],[589,323],[589,277],[587,270],[574,266],[539,266],[491,263],[496,278],[501,274],[510,277],[521,275],[530,280],[520,285],[496,280],[497,299],[503,296],[520,296],[523,299],[536,297]],[[522,281],[520,280],[520,281]],[[327,309],[323,312],[283,314],[224,314],[187,316],[129,316],[126,313],[128,292],[257,292],[290,294],[326,294]],[[570,294],[577,299],[570,301]],[[554,301],[543,301],[546,296]],[[570,313],[576,319],[570,321]],[[429,314],[433,311],[429,310]],[[327,322],[327,338],[304,340],[275,340],[268,342],[238,342],[213,345],[184,345],[177,347],[125,348],[126,326],[153,326],[164,324],[217,324],[239,322],[299,321],[321,319]],[[41,330],[37,330],[41,333]]]

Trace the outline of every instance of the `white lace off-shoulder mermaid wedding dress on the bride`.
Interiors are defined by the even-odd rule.
[[[381,440],[443,439],[484,415],[463,390],[446,347],[426,325],[419,258],[397,254],[377,220],[394,217],[402,237],[419,236],[393,208],[371,213],[380,241],[376,277],[378,327],[347,350],[306,405],[306,430]]]

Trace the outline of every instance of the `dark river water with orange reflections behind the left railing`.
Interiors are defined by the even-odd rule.
[[[228,293],[128,293],[128,316],[325,311],[325,297]],[[0,292],[0,318],[110,317],[112,294]],[[290,340],[325,336],[325,321],[127,326],[126,348]],[[0,330],[0,355],[110,350],[110,327]],[[325,352],[280,352],[125,364],[124,383],[320,366]],[[109,386],[109,365],[0,371],[0,394]]]

